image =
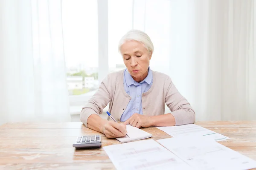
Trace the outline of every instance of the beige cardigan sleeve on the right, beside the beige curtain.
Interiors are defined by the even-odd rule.
[[[171,78],[166,79],[166,105],[172,111],[175,125],[185,125],[195,122],[195,111],[173,84]]]

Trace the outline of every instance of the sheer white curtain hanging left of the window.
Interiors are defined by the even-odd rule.
[[[61,0],[0,0],[0,124],[70,121]]]

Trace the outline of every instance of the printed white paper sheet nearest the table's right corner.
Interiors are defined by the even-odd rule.
[[[197,170],[247,170],[256,167],[253,159],[211,139],[177,137],[157,142]]]

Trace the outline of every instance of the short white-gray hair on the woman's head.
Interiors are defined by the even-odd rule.
[[[119,41],[119,45],[118,45],[119,52],[120,52],[121,46],[128,40],[135,40],[143,43],[145,45],[145,48],[148,49],[149,54],[152,54],[154,51],[154,45],[150,40],[150,38],[148,37],[148,35],[143,31],[133,29],[128,31]]]

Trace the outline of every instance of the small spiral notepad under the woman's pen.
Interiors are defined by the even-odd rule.
[[[126,130],[129,137],[124,136],[116,138],[121,143],[133,142],[152,137],[152,134],[131,125],[126,125]]]

